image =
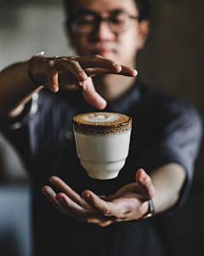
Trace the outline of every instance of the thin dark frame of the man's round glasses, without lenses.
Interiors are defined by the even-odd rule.
[[[125,31],[127,30],[128,26],[129,26],[129,24],[128,24],[127,28],[126,28],[125,30],[122,30],[121,32],[116,32],[116,31],[114,31],[114,29],[112,29],[110,18],[111,18],[111,16],[112,16],[114,13],[116,13],[116,14],[124,13],[124,14],[127,15],[128,18],[133,19],[133,20],[139,20],[139,21],[140,21],[139,15],[138,15],[138,16],[133,16],[133,15],[128,14],[126,11],[121,10],[121,9],[118,9],[118,10],[113,11],[113,12],[111,13],[111,15],[109,15],[108,17],[101,17],[100,15],[96,14],[96,13],[95,13],[94,11],[92,11],[92,10],[89,10],[89,9],[82,9],[81,11],[79,11],[79,12],[77,13],[77,15],[71,16],[71,18],[70,18],[70,27],[71,27],[71,31],[74,32],[74,33],[77,33],[77,34],[79,34],[79,35],[82,35],[82,36],[88,36],[88,35],[90,35],[90,34],[96,32],[96,31],[99,29],[99,25],[100,25],[101,21],[107,21],[108,26],[110,27],[110,29],[111,29],[112,32],[115,32],[115,33],[117,33],[117,34],[118,34],[118,33],[121,33],[121,32],[125,32]],[[94,29],[93,31],[91,31],[91,32],[80,32],[80,30],[77,28],[77,22],[76,22],[77,16],[79,16],[79,15],[94,15],[94,16],[97,18],[97,20],[98,20],[98,23],[96,24],[95,29]]]

